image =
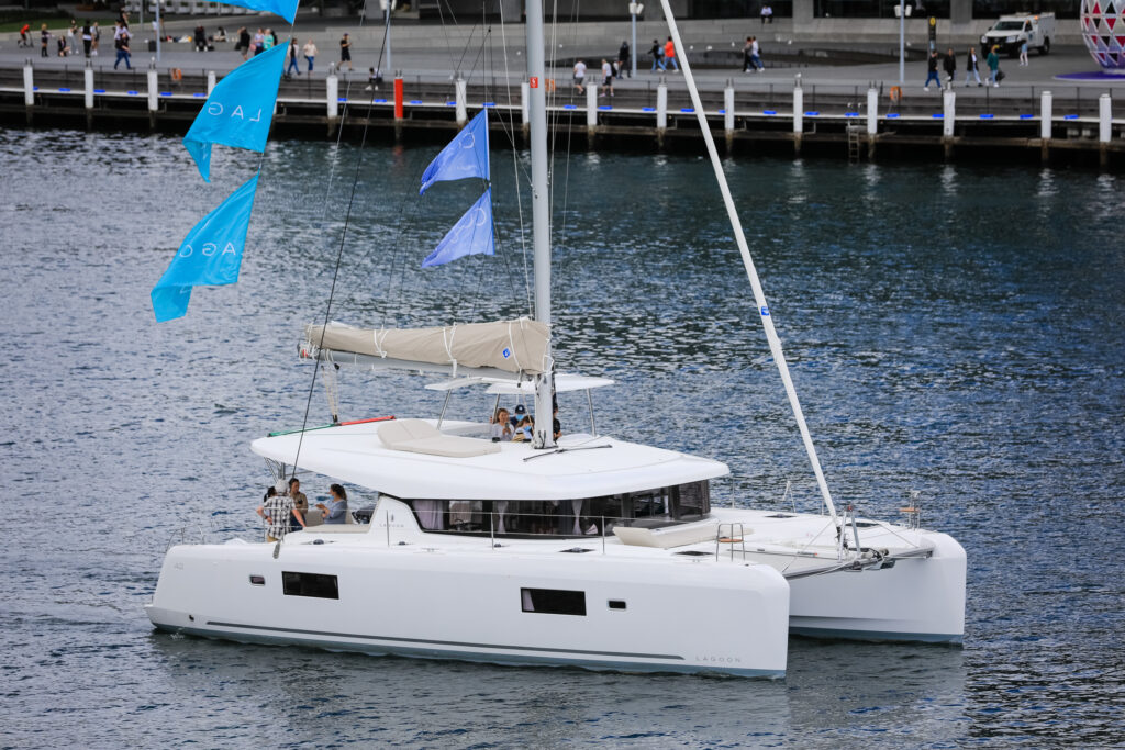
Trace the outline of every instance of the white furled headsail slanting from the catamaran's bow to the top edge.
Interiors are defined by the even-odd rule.
[[[801,440],[804,442],[804,451],[809,454],[809,462],[812,463],[812,472],[817,475],[817,485],[820,487],[820,496],[825,499],[832,523],[839,527],[839,518],[836,515],[836,505],[832,503],[831,493],[828,491],[828,482],[825,481],[825,472],[820,469],[820,459],[817,458],[817,446],[812,444],[812,436],[809,434],[809,425],[804,422],[804,412],[801,410],[801,401],[796,398],[796,389],[793,387],[793,379],[789,374],[789,364],[785,362],[785,353],[781,349],[781,340],[774,331],[773,319],[770,316],[770,306],[766,305],[766,296],[762,290],[762,282],[758,281],[758,272],[754,268],[754,259],[750,257],[750,249],[746,244],[746,233],[742,232],[742,223],[738,220],[738,210],[735,208],[735,199],[730,195],[730,187],[727,184],[727,175],[722,171],[722,162],[719,161],[719,152],[714,147],[714,138],[711,137],[711,126],[706,121],[703,111],[703,102],[700,101],[700,92],[695,88],[695,79],[692,76],[691,65],[687,63],[687,55],[684,54],[684,43],[680,38],[680,29],[676,19],[672,15],[672,6],[668,0],[660,0],[664,9],[664,17],[668,20],[668,31],[672,34],[672,42],[676,45],[680,55],[680,67],[684,71],[684,82],[687,84],[687,92],[692,97],[692,107],[695,108],[695,117],[699,119],[700,129],[703,130],[703,141],[706,143],[708,154],[711,156],[711,166],[714,169],[714,177],[719,182],[719,191],[722,193],[722,201],[727,205],[727,215],[730,218],[730,227],[735,232],[735,242],[738,243],[738,252],[742,256],[742,265],[746,266],[746,275],[750,279],[750,287],[754,289],[754,301],[758,307],[758,316],[762,318],[762,327],[766,331],[766,340],[770,342],[770,353],[773,354],[774,362],[777,363],[777,371],[781,380],[785,385],[785,394],[789,396],[789,404],[793,407],[793,416],[796,418],[796,426],[801,431]]]

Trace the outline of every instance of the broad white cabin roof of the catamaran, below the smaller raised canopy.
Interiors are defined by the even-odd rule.
[[[379,436],[386,424],[307,431],[304,441],[300,433],[260,437],[250,448],[267,459],[403,499],[565,500],[714,479],[730,471],[710,459],[579,434],[564,435],[559,448],[566,450],[556,452],[537,451],[528,443],[464,436],[458,440],[478,441],[487,452],[471,455],[472,451],[458,450],[457,455],[439,455],[395,450]],[[443,427],[443,434],[456,436],[483,425],[446,422]],[[402,435],[388,433],[387,437]],[[536,458],[524,461],[530,457]]]

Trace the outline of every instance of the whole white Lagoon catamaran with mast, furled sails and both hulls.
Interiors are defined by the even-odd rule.
[[[683,49],[667,0],[670,34]],[[542,7],[526,4],[528,76],[543,81]],[[827,513],[711,507],[726,464],[588,433],[557,436],[556,394],[604,378],[555,371],[544,87],[529,89],[534,319],[423,329],[310,325],[318,363],[444,376],[428,388],[534,406],[526,441],[446,418],[370,419],[274,434],[251,449],[363,488],[348,524],[277,543],[169,550],[148,616],[244,642],[500,663],[781,676],[790,632],[960,642],[965,554],[952,537],[839,514],[750,261],[691,67],[683,72],[771,352]],[[326,370],[331,371],[328,367]],[[315,521],[315,513],[313,514]],[[354,523],[352,523],[354,522]]]

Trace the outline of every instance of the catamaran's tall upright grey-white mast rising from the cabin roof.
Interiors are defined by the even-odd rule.
[[[551,225],[550,196],[547,191],[547,92],[543,65],[543,7],[541,0],[528,0],[528,116],[531,138],[531,227],[534,247],[536,319],[551,322]],[[548,343],[543,374],[536,378],[536,448],[554,448],[552,391],[555,365]]]

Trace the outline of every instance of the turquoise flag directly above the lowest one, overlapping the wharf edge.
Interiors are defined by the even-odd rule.
[[[266,150],[288,46],[279,44],[263,52],[219,81],[183,136],[184,147],[207,182],[210,182],[213,143],[256,152]]]

